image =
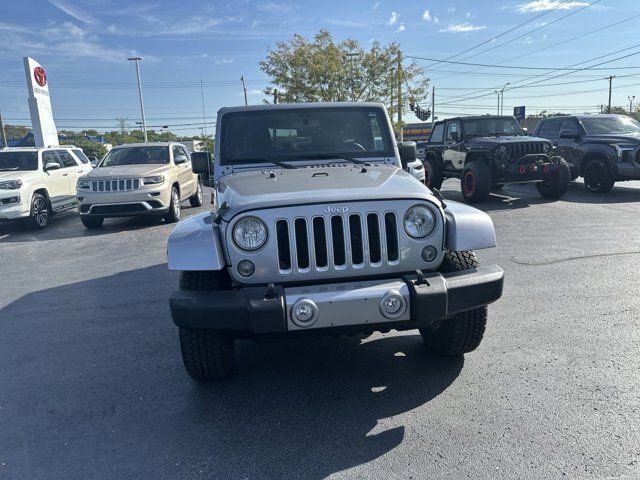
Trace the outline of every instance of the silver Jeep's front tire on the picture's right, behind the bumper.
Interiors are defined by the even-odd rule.
[[[478,260],[472,251],[445,250],[440,272],[459,272],[476,268]],[[478,348],[487,326],[487,307],[458,313],[429,328],[421,328],[420,335],[427,350],[440,355],[461,355]]]

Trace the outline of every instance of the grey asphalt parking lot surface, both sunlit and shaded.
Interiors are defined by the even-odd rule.
[[[506,280],[477,351],[243,341],[207,386],[169,314],[171,225],[0,225],[0,477],[639,478],[640,182],[481,208]]]

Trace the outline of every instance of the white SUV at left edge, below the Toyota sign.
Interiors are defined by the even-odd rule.
[[[0,220],[46,227],[51,215],[77,205],[76,182],[91,169],[75,147],[0,149]]]

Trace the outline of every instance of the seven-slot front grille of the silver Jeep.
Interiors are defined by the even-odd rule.
[[[275,225],[280,273],[395,265],[399,261],[396,214],[279,219]]]

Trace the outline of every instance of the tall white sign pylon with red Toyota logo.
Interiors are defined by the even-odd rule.
[[[29,113],[36,147],[58,145],[58,131],[53,121],[47,74],[33,58],[24,57],[24,71],[29,91]]]

